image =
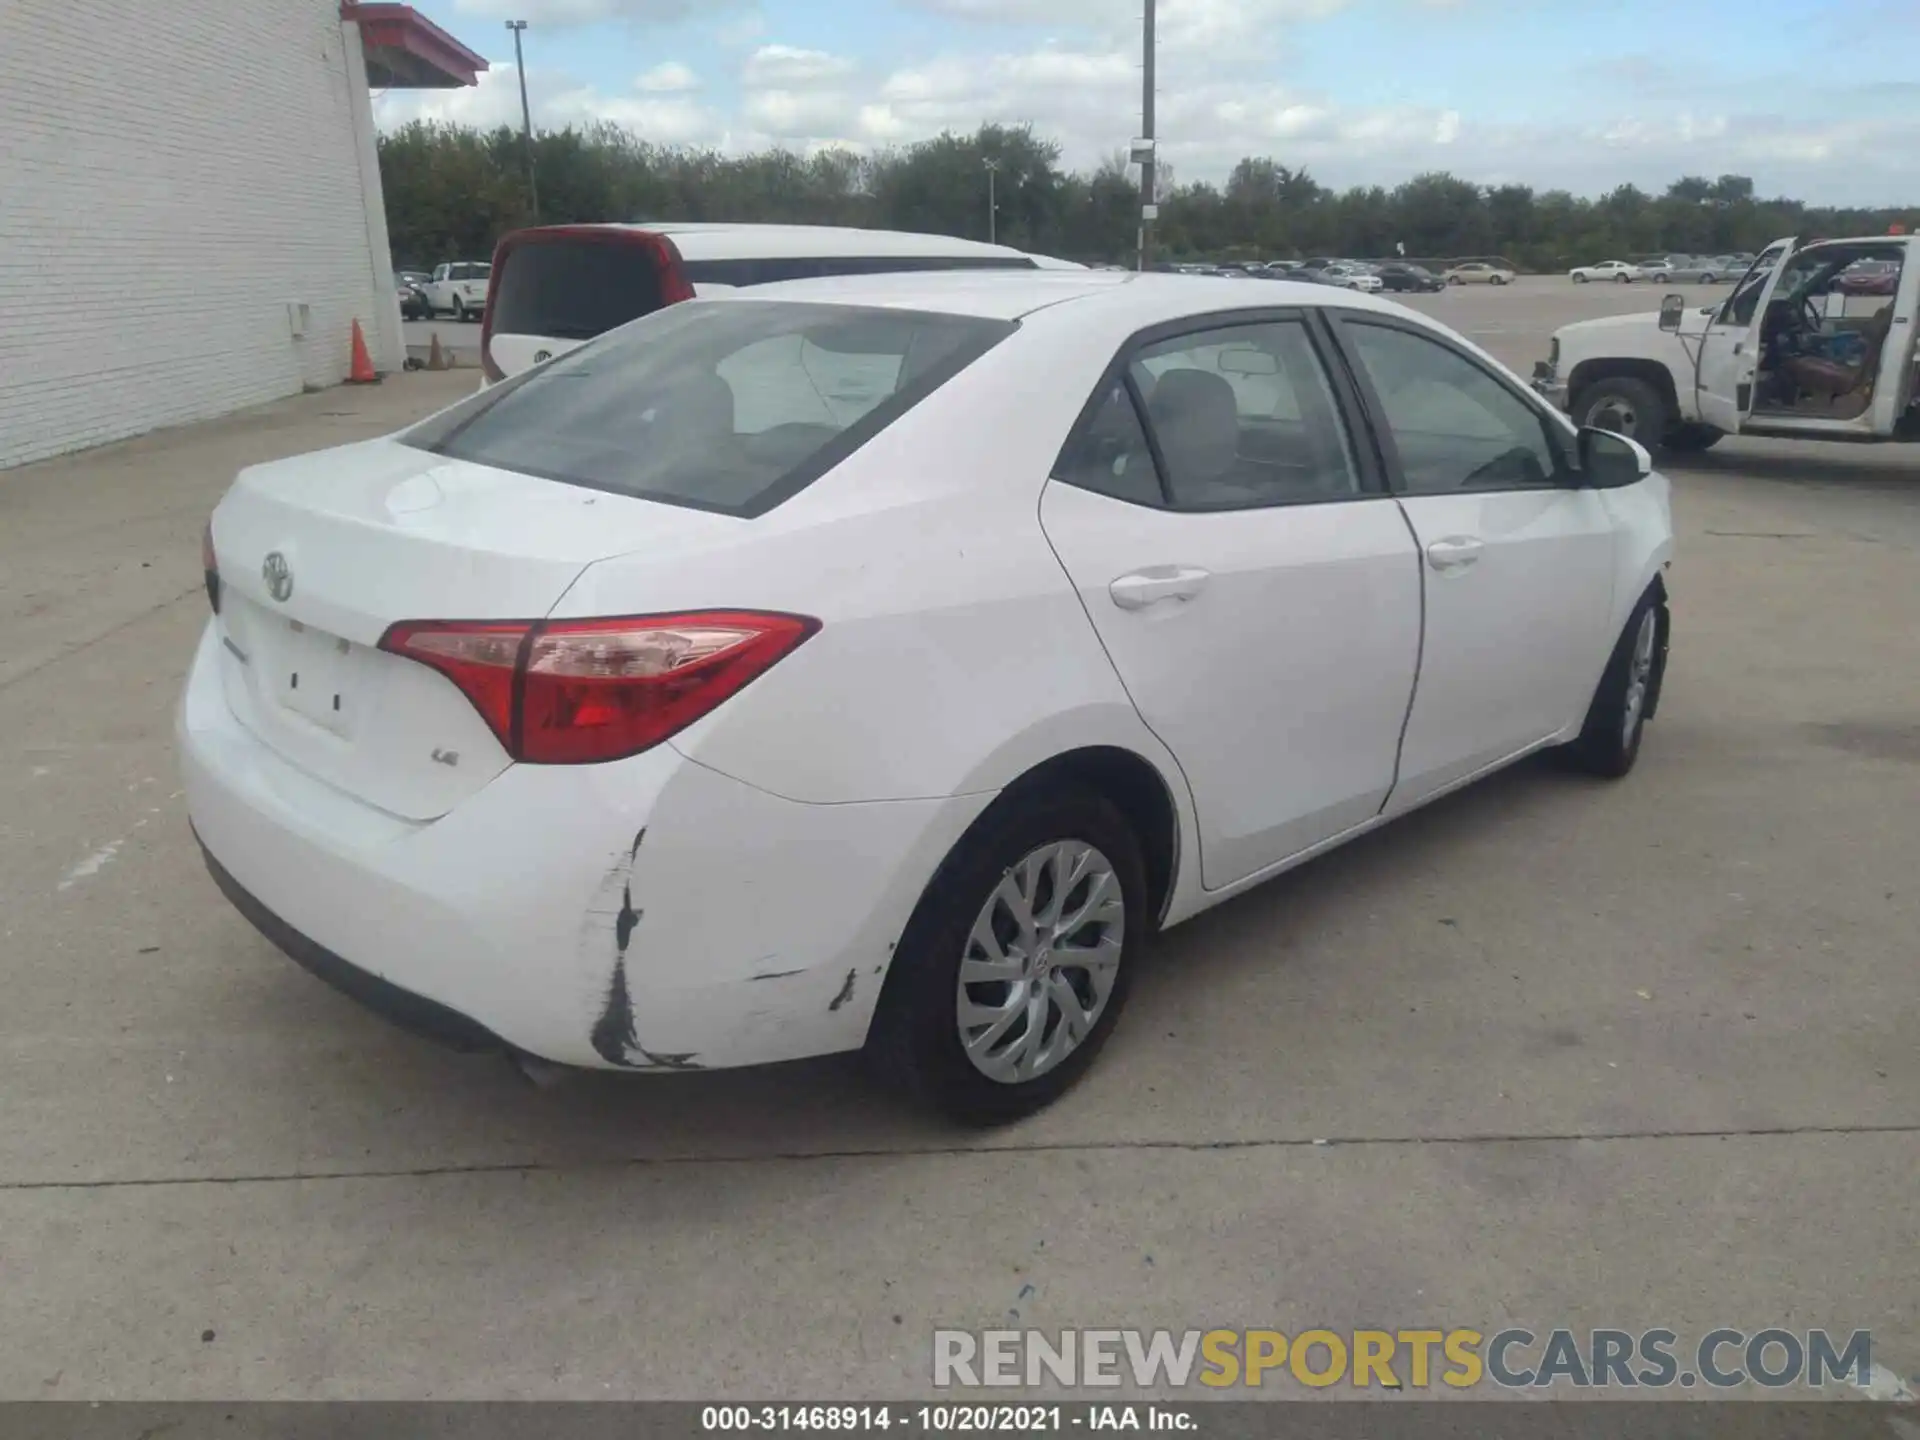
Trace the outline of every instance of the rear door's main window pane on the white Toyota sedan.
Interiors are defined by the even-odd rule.
[[[1298,505],[1359,493],[1346,428],[1306,324],[1162,340],[1129,367],[1179,509]]]

